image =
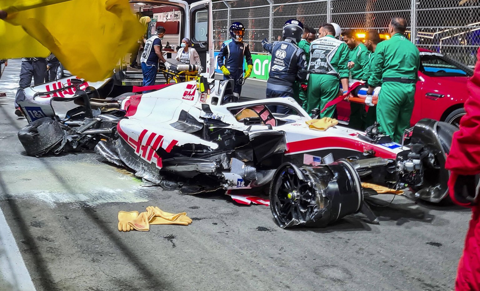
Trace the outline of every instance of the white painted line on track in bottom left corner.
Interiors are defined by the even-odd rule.
[[[0,209],[0,290],[35,291],[12,231]]]

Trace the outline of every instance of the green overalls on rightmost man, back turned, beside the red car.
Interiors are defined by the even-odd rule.
[[[375,87],[382,82],[377,121],[380,130],[396,142],[401,142],[410,126],[419,67],[419,50],[402,34],[393,35],[375,49],[368,84]]]

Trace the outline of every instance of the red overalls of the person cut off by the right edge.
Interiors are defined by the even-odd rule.
[[[475,176],[480,174],[480,48],[473,77],[468,81],[468,100],[460,130],[455,132],[445,167],[451,171],[450,197],[459,205],[472,207],[472,220],[465,249],[458,263],[456,290],[480,290],[480,199]]]

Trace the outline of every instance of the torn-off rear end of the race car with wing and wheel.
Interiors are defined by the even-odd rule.
[[[89,83],[69,76],[25,88],[25,100],[18,104],[29,124],[18,138],[26,153],[42,156],[81,151],[92,149],[99,140],[113,139],[115,127],[125,115],[120,101],[133,93],[101,98],[100,93],[111,91],[110,81]]]

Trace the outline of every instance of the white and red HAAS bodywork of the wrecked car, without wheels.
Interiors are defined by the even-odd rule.
[[[228,95],[228,82],[212,82],[213,86],[209,93],[196,90],[196,83],[192,81],[173,84],[152,93],[126,97],[121,108],[125,110],[125,116],[128,118],[120,120],[117,125],[119,136],[124,141],[122,148],[128,145],[132,149],[132,154],[155,167],[156,171],[146,173],[142,167],[136,169],[135,163],[127,165],[135,170],[141,170],[141,175],[148,180],[161,180],[161,173],[164,171],[180,175],[182,172],[189,173],[185,175],[186,177],[194,175],[192,172],[195,171],[205,175],[221,173],[223,182],[219,186],[225,189],[248,189],[261,186],[262,183],[258,181],[260,178],[245,179],[239,174],[239,170],[232,169],[232,164],[238,163],[244,169],[250,163],[258,172],[258,167],[265,169],[272,166],[270,170],[274,170],[276,168],[274,163],[269,162],[266,163],[268,165],[260,166],[259,163],[262,159],[268,159],[267,156],[275,156],[275,159],[278,159],[279,152],[282,161],[277,162],[288,161],[299,166],[316,166],[340,158],[359,160],[379,157],[395,161],[399,153],[410,150],[392,141],[376,144],[361,140],[359,135],[364,132],[342,126],[334,126],[326,131],[312,130],[305,124],[311,117],[292,98],[224,103],[222,100]],[[236,117],[241,110],[254,108],[260,112],[269,105],[288,106],[295,114],[277,116],[264,111],[264,115],[271,115],[273,119],[262,120],[261,124],[245,124]],[[219,124],[209,125],[212,121]],[[248,137],[249,141],[260,139],[261,141],[256,141],[256,145],[252,146],[254,157],[249,160],[229,155],[228,152],[239,149],[235,149],[235,146],[230,149],[225,146],[228,139],[225,139],[223,132],[214,138],[211,134],[202,133],[220,128],[223,131],[240,133]],[[231,137],[234,137],[233,133]],[[182,163],[185,163],[188,157],[186,153],[182,153],[182,148],[192,146],[199,147],[202,151],[199,154],[188,151],[188,155],[192,157],[192,164],[186,163],[187,167],[179,167],[181,163],[173,162],[176,155],[183,156]],[[260,149],[262,147],[263,149]],[[215,154],[216,151],[218,155]],[[255,156],[257,151],[263,151],[260,154],[262,156],[259,157],[258,154]],[[220,152],[226,153],[226,156],[219,157]],[[228,160],[225,162],[225,159]]]

